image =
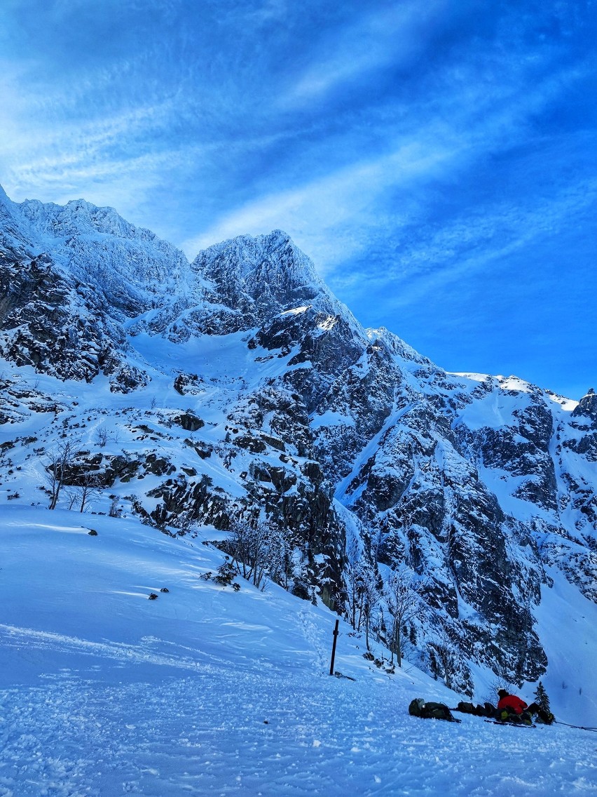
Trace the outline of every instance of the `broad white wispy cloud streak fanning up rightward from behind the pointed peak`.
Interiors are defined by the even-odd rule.
[[[413,103],[412,120],[404,130],[396,131],[393,120],[388,124],[386,146],[394,140],[387,153],[256,198],[187,238],[183,248],[193,256],[225,238],[279,227],[314,257],[322,273],[331,274],[381,235],[396,246],[400,230],[416,220],[413,203],[417,210],[427,202],[423,192],[428,186],[458,180],[472,164],[525,139],[529,119],[579,73],[572,70],[540,81],[525,96],[520,96],[515,77],[504,77],[491,93],[482,85],[469,84],[466,96],[463,92],[436,100],[429,119],[427,101]],[[396,204],[396,192],[404,197],[403,206]],[[462,240],[467,234],[472,233],[462,232]],[[380,279],[387,278],[386,268],[384,264],[385,277]]]

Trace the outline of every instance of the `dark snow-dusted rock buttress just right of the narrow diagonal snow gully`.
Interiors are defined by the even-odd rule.
[[[477,648],[479,661],[491,666],[497,660],[516,677],[540,672],[544,654],[529,611],[540,599],[540,570],[521,567],[512,556],[505,513],[432,404],[418,397],[398,410],[396,423],[349,482],[345,501],[377,539],[377,558],[410,564],[426,583],[428,606],[447,614],[455,636]],[[513,585],[529,606],[521,607]],[[478,618],[473,624],[471,609]],[[486,624],[496,629],[499,650]],[[525,661],[521,644],[529,653]]]

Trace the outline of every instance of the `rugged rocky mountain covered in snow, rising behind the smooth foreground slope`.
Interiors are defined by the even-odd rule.
[[[60,472],[59,507],[91,474],[89,510],[172,534],[267,518],[314,603],[349,613],[355,574],[410,573],[404,650],[458,691],[550,677],[554,574],[597,599],[595,393],[443,371],[362,328],[279,231],[189,264],[82,200],[2,192],[0,224],[0,501],[48,505]]]

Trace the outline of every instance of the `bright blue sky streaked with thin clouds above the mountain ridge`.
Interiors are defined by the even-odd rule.
[[[0,183],[280,228],[452,371],[597,388],[591,0],[3,0]]]

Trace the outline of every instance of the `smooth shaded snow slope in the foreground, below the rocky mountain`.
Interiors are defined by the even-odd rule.
[[[348,677],[330,677],[335,615],[271,583],[237,579],[235,592],[201,579],[222,561],[203,544],[214,536],[2,508],[2,797],[597,789],[592,732],[409,717],[412,697],[458,696],[413,667],[366,662],[343,622],[336,669]],[[552,595],[560,634],[569,597]]]

